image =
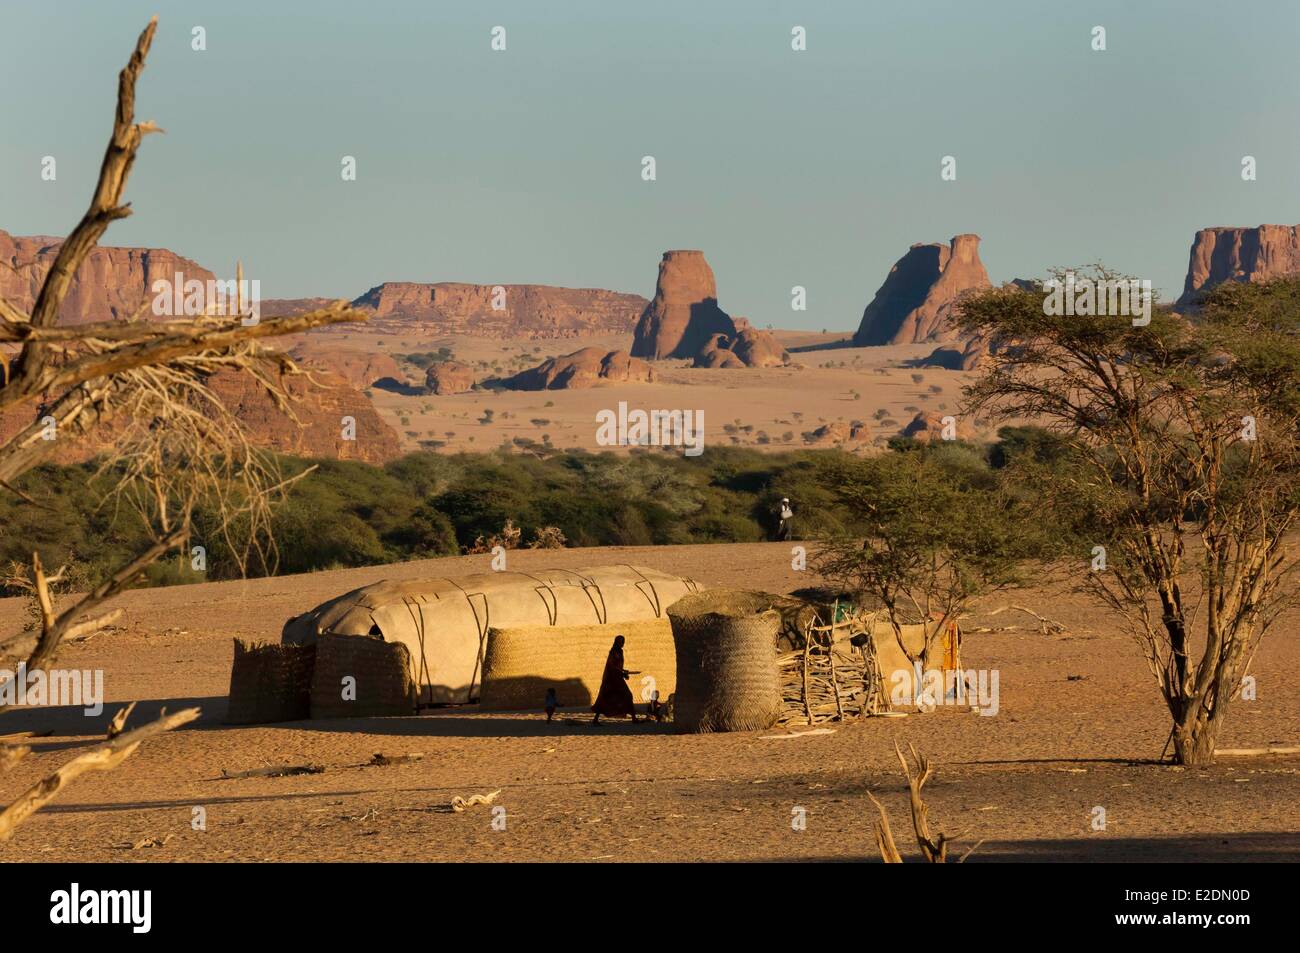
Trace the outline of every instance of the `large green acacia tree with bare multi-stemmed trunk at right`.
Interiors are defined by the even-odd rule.
[[[1044,313],[1041,290],[962,306],[994,342],[966,412],[1050,430],[1044,517],[1086,541],[1080,588],[1156,677],[1179,763],[1213,759],[1260,638],[1294,597],[1300,281],[1227,283],[1192,320]]]

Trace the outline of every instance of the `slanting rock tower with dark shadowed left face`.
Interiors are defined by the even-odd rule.
[[[979,259],[979,235],[957,235],[950,246],[914,244],[889,269],[862,312],[855,346],[916,345],[958,335],[953,306],[962,295],[992,287]]]

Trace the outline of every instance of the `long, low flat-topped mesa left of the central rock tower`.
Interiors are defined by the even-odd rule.
[[[488,338],[571,338],[627,334],[646,306],[641,295],[550,285],[467,285],[389,281],[352,302],[372,325],[428,325],[447,334]]]

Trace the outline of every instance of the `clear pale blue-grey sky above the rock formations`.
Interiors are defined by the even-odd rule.
[[[104,244],[242,259],[263,298],[650,296],[663,251],[701,248],[732,315],[849,330],[918,242],[1176,298],[1197,229],[1300,222],[1295,0],[0,0],[0,229],[84,212],[153,13],[136,118],[166,133]]]

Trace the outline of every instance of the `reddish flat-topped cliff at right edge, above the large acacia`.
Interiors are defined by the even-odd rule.
[[[1300,274],[1300,225],[1201,229],[1192,239],[1179,306],[1225,281],[1269,281]]]

